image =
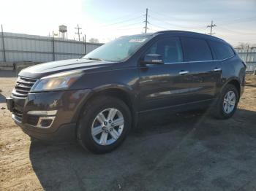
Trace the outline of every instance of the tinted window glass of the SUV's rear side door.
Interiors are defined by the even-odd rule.
[[[194,38],[182,38],[184,55],[187,61],[211,61],[211,50],[206,40]]]

